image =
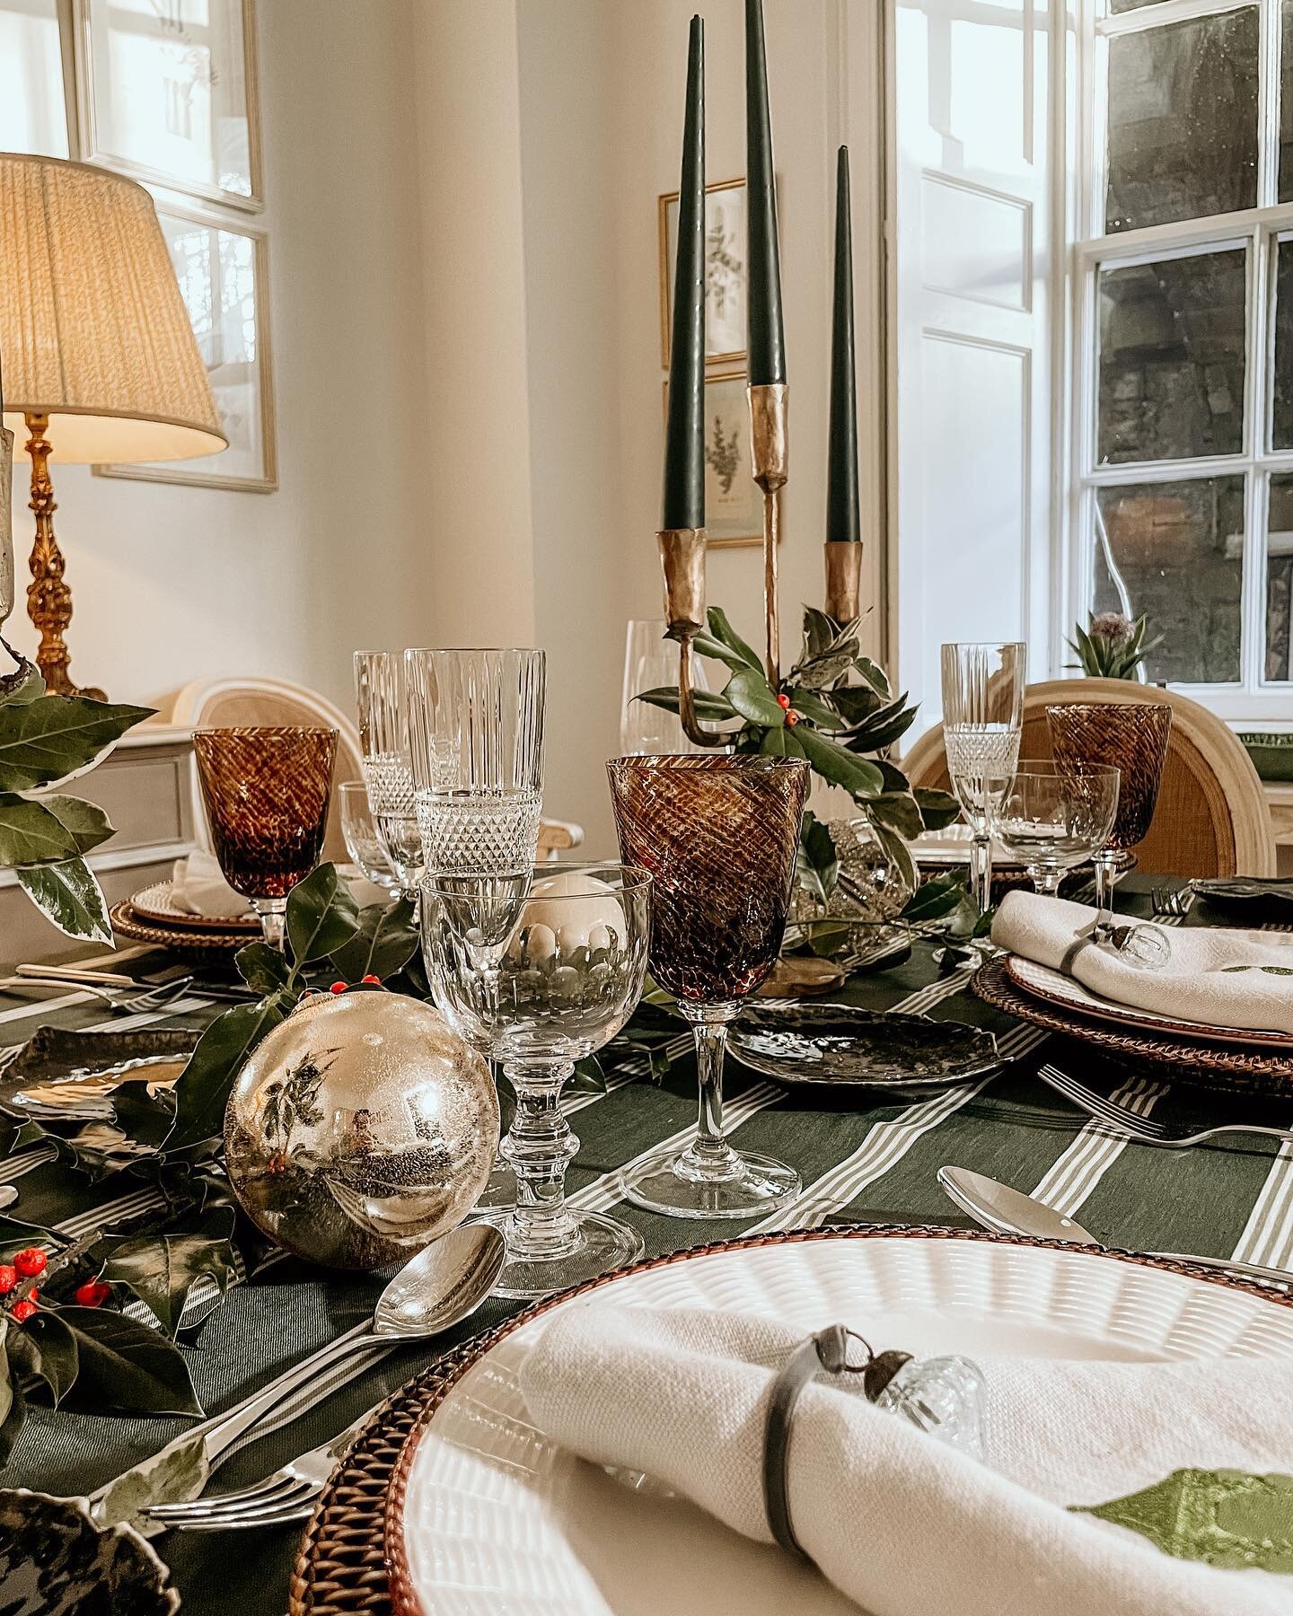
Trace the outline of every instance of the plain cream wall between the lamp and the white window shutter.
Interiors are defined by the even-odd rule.
[[[823,593],[849,139],[879,648],[879,0],[764,5],[790,383],[782,638],[792,653],[800,603]],[[613,852],[624,624],[661,612],[656,197],[677,187],[692,10],[262,0],[280,490],[55,467],[74,677],[144,698],[262,671],[349,706],[356,646],[538,643],[548,810]],[[742,13],[705,13],[711,179],[745,168]],[[758,642],[756,548],[711,554],[710,600]]]

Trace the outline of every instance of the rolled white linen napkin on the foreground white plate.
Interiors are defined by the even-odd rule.
[[[766,1543],[768,1393],[808,1328],[590,1301],[553,1317],[520,1390],[562,1446],[642,1471]],[[1063,1508],[1107,1503],[1175,1469],[1290,1471],[1288,1366],[979,1362],[988,1466],[868,1404],[861,1377],[816,1380],[798,1401],[795,1535],[870,1616],[1293,1613],[1293,1577],[1175,1559]]]

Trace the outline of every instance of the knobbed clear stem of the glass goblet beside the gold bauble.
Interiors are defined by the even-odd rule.
[[[566,1168],[579,1138],[561,1113],[561,1089],[572,1062],[550,1067],[504,1063],[516,1089],[516,1115],[499,1154],[516,1173],[516,1209],[506,1231],[508,1256],[541,1262],[579,1248],[579,1228],[566,1210]]]

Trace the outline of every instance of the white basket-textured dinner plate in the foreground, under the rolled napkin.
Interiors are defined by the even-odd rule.
[[[845,1322],[878,1348],[971,1356],[1288,1359],[1293,1309],[1233,1285],[1101,1252],[912,1235],[697,1254],[629,1272],[596,1299]],[[517,1370],[556,1311],[449,1388],[409,1438],[388,1516],[399,1616],[857,1616],[816,1571],[575,1459],[535,1427]],[[394,1496],[399,1493],[396,1490]]]

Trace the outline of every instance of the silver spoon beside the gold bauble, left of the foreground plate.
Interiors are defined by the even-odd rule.
[[[152,1504],[154,1500],[147,1496],[149,1479],[165,1479],[166,1458],[181,1448],[187,1450],[194,1437],[199,1437],[200,1454],[189,1456],[184,1464],[187,1480],[183,1496],[194,1498],[207,1485],[217,1461],[255,1425],[262,1414],[276,1408],[299,1387],[317,1382],[333,1364],[356,1353],[372,1353],[381,1341],[394,1345],[427,1340],[469,1319],[498,1283],[504,1254],[503,1235],[491,1223],[464,1223],[443,1235],[396,1273],[378,1298],[372,1319],[359,1330],[330,1341],[225,1414],[191,1427],[150,1459],[144,1459],[142,1464],[91,1493],[94,1519],[100,1524],[116,1519],[112,1493],[123,1482],[126,1485],[118,1496],[129,1496],[128,1513]],[[176,1501],[175,1495],[166,1501]],[[162,1500],[157,1503],[158,1508],[150,1509],[150,1514],[160,1517],[163,1504]]]

